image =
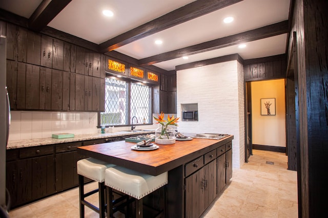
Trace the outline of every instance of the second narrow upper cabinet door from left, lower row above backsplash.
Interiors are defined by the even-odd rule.
[[[17,67],[17,109],[25,109],[26,64],[18,62]]]

